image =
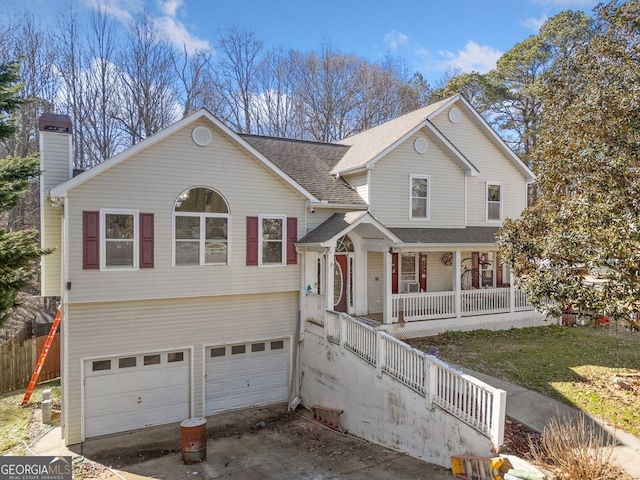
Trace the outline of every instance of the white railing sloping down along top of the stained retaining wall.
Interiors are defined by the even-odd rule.
[[[491,440],[498,449],[504,441],[507,394],[416,350],[391,335],[358,322],[346,314],[327,312],[329,342],[353,352]]]

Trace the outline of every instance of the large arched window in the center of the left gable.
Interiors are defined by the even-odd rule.
[[[178,195],[173,209],[175,265],[227,265],[229,207],[215,190],[195,187]]]

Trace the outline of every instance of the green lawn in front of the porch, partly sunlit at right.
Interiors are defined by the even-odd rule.
[[[615,374],[640,375],[640,334],[616,326],[535,327],[449,332],[410,342],[439,357],[578,407],[640,437],[640,377],[634,388]]]

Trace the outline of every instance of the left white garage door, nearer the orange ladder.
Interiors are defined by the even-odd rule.
[[[85,361],[85,437],[189,418],[187,350]]]

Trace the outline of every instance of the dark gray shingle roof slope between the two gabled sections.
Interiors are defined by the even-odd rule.
[[[367,205],[343,178],[336,179],[329,173],[349,150],[348,146],[239,135],[317,199],[334,204]]]

